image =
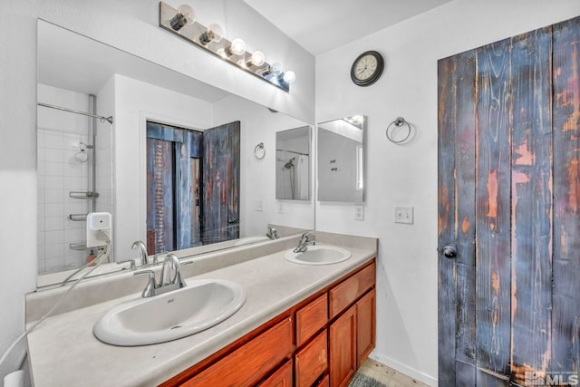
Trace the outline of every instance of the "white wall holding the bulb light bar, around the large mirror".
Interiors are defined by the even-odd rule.
[[[177,7],[181,0],[170,0]],[[199,21],[293,68],[285,93],[217,60],[158,26],[158,0],[3,0],[0,2],[0,353],[24,330],[24,294],[36,283],[36,18],[59,24],[256,102],[314,121],[314,57],[244,2],[196,0]],[[269,59],[268,59],[269,60]],[[17,204],[17,205],[15,205]],[[23,342],[24,343],[24,342]],[[22,343],[21,343],[22,344]],[[24,345],[0,366],[13,371]]]

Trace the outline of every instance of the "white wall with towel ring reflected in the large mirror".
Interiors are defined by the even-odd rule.
[[[304,121],[235,96],[214,104],[214,125],[235,120],[241,121],[242,132],[240,192],[244,196],[240,198],[240,229],[245,235],[240,237],[264,235],[269,223],[314,228],[312,199],[275,199],[275,132],[304,127]],[[254,149],[260,142],[266,149],[263,160],[254,157]],[[262,211],[256,211],[256,201],[262,202]]]

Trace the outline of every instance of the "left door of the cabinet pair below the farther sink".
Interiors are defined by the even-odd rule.
[[[356,305],[330,325],[330,385],[348,384],[356,372]]]

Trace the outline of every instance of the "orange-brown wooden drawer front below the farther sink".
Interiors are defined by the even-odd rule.
[[[340,314],[360,295],[374,285],[375,264],[366,266],[360,272],[330,290],[330,318]]]

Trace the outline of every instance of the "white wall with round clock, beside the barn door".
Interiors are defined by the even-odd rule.
[[[580,15],[580,2],[458,0],[316,57],[316,121],[368,116],[365,220],[354,208],[321,204],[316,228],[380,238],[377,347],[372,356],[425,382],[437,378],[437,61]],[[370,87],[350,80],[358,54],[386,60]],[[415,138],[385,138],[397,116]],[[393,223],[394,206],[415,208],[414,224]]]

